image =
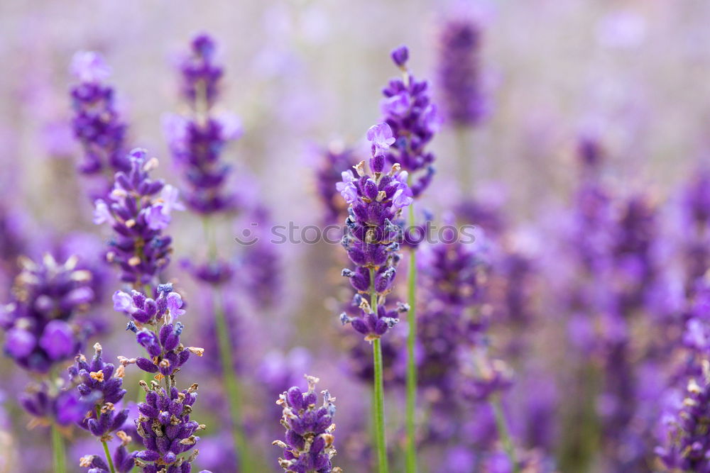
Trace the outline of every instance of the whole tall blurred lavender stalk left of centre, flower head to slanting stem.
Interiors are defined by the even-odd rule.
[[[224,377],[226,403],[229,404],[232,435],[239,457],[240,471],[253,471],[241,428],[241,392],[232,368],[234,347],[226,330],[224,308],[219,300],[219,284],[227,282],[234,269],[219,260],[214,240],[212,216],[236,210],[237,196],[226,186],[231,167],[220,160],[224,147],[241,135],[241,126],[231,113],[214,113],[219,97],[219,80],[224,74],[215,62],[216,43],[206,34],[197,35],[190,54],[180,65],[182,98],[190,106],[187,116],[169,116],[165,120],[170,151],[183,169],[187,181],[187,206],[203,217],[204,238],[208,242],[205,267],[222,268],[214,279],[204,280],[213,286],[214,318],[217,325],[219,357]]]

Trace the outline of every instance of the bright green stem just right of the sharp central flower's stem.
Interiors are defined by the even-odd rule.
[[[414,204],[409,206],[409,224],[415,225]],[[416,408],[417,408],[417,366],[414,357],[414,348],[417,343],[417,252],[412,248],[409,253],[408,268],[408,304],[407,322],[409,333],[407,335],[407,447],[406,467],[407,473],[417,472],[417,447],[416,447]]]

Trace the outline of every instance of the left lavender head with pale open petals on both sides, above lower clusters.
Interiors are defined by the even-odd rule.
[[[121,281],[138,288],[151,284],[160,269],[170,262],[169,236],[163,229],[173,210],[182,209],[177,190],[149,173],[158,160],[146,159],[146,150],[129,155],[130,171],[117,172],[107,200],[97,199],[94,223],[108,223],[116,235],[109,241],[107,261],[119,266]]]

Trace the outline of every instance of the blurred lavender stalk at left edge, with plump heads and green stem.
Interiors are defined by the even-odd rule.
[[[20,258],[13,300],[0,307],[0,327],[5,331],[4,352],[40,384],[31,384],[20,404],[33,424],[51,425],[54,468],[65,472],[62,428],[83,413],[84,403],[58,384],[58,366],[82,347],[87,330],[75,318],[94,300],[92,272],[81,269],[77,257],[56,260],[50,254],[34,262]]]

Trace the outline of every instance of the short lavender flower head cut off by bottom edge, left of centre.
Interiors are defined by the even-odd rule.
[[[333,467],[332,457],[335,424],[335,398],[322,391],[323,405],[316,406],[315,385],[318,378],[306,376],[308,391],[293,386],[279,396],[276,404],[283,406],[281,424],[286,428],[284,440],[274,440],[273,445],[283,448],[284,458],[278,463],[286,472],[292,473],[339,473]]]

